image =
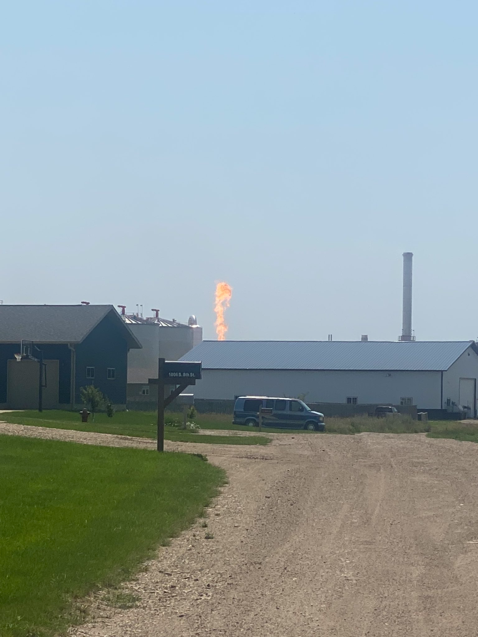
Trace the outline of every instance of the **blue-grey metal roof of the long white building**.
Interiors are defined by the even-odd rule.
[[[356,369],[444,371],[470,341],[203,341],[180,361],[203,369]]]

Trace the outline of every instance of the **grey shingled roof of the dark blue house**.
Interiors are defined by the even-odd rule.
[[[0,343],[81,343],[108,315],[128,347],[140,349],[112,305],[0,305]]]

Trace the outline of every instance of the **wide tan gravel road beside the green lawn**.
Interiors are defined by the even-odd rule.
[[[198,520],[129,583],[136,608],[99,606],[75,637],[478,634],[478,445],[393,434],[169,445],[192,447],[229,475],[208,527]]]

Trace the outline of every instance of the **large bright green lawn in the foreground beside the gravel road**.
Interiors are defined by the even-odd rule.
[[[81,621],[75,600],[126,580],[224,478],[189,454],[0,436],[1,637]]]

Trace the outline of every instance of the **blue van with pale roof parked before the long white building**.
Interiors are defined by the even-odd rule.
[[[235,425],[256,427],[259,409],[272,409],[272,415],[264,415],[264,427],[277,429],[308,429],[324,431],[324,414],[312,412],[307,404],[296,398],[271,398],[268,396],[237,396],[234,404]]]

